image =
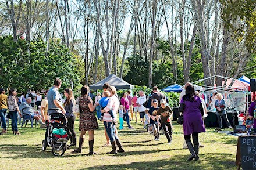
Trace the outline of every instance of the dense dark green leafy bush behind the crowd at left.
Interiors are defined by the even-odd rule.
[[[28,50],[29,49],[29,50]],[[62,79],[62,89],[79,86],[75,60],[69,49],[58,41],[51,42],[49,55],[45,54],[46,44],[42,40],[27,41],[0,38],[0,86],[17,88],[18,92],[49,88],[55,78]]]

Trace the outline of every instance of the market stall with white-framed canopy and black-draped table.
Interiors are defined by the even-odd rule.
[[[249,89],[250,84],[247,82],[244,82],[245,77],[243,78],[243,81],[241,79],[233,79],[229,77],[222,77],[216,75],[216,77],[220,77],[224,79],[222,81],[222,86],[202,86],[201,94],[202,98],[205,100],[205,103],[207,104],[207,113],[208,117],[205,118],[205,126],[207,127],[218,127],[218,120],[216,116],[216,108],[214,107],[214,103],[210,101],[213,92],[217,91],[218,93],[221,93],[223,95],[223,99],[226,101],[227,104],[227,118],[229,119],[229,122],[232,126],[238,124],[238,115],[239,113],[244,113],[247,108],[248,103],[248,95],[250,95]],[[214,78],[214,77],[210,77]],[[248,78],[247,78],[248,79]],[[246,79],[246,80],[247,80]],[[204,81],[205,79],[193,82],[194,84],[198,84],[201,81]],[[223,126],[227,126],[225,124],[225,121],[223,122]]]

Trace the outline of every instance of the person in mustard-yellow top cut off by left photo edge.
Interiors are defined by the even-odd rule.
[[[6,134],[6,122],[5,122],[5,114],[8,109],[7,107],[7,95],[5,95],[5,89],[0,89],[0,118],[3,126],[3,130],[0,135]]]

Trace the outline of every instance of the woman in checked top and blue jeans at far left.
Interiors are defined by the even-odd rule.
[[[15,89],[10,88],[9,90],[9,96],[7,97],[8,102],[8,110],[10,114],[10,118],[12,119],[12,133],[15,135],[20,135],[18,131],[18,113],[20,117],[22,117],[22,114],[20,113],[19,106],[16,100],[17,92]]]

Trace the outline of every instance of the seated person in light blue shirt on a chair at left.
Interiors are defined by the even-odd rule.
[[[37,115],[38,111],[34,111],[32,106],[31,106],[31,97],[27,97],[26,102],[23,102],[20,104],[19,109],[22,111],[23,114],[29,114],[31,115],[31,118],[34,120],[37,120],[41,125],[45,125],[42,120],[41,120],[41,115]]]

